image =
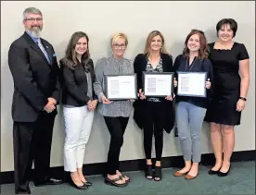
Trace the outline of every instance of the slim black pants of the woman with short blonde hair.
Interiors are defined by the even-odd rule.
[[[104,116],[104,119],[110,133],[107,174],[116,175],[116,171],[119,170],[119,155],[123,143],[123,134],[129,117]]]

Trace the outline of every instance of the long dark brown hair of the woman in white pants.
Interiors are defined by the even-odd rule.
[[[61,65],[70,67],[72,69],[80,65],[76,57],[75,46],[76,46],[76,43],[83,37],[85,37],[85,39],[87,40],[87,51],[82,55],[81,65],[85,68],[85,71],[89,70],[89,67],[88,67],[88,62],[90,61],[89,38],[87,34],[84,33],[83,31],[76,31],[72,34],[70,38],[70,42],[65,52],[65,57],[60,60]]]

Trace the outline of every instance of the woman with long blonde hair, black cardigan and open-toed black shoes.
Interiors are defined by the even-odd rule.
[[[142,72],[173,72],[173,58],[166,52],[164,38],[160,31],[153,30],[147,36],[144,54],[134,59],[134,72],[137,74],[137,88],[140,99],[134,103],[134,120],[144,131],[144,150],[147,159],[146,177],[153,178],[151,150],[152,136],[155,137],[156,181],[161,179],[161,154],[163,148],[163,129],[171,132],[174,124],[173,98],[145,97],[143,91]]]

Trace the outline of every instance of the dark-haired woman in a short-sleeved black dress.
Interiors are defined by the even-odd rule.
[[[230,170],[235,145],[234,127],[240,125],[247,100],[250,61],[245,45],[233,41],[237,32],[234,19],[220,20],[216,30],[219,40],[209,44],[215,85],[206,121],[211,124],[211,145],[216,158],[209,174],[224,177]]]

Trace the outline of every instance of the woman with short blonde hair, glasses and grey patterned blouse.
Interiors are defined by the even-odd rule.
[[[111,37],[111,49],[113,54],[103,57],[96,63],[96,81],[94,89],[98,96],[98,111],[104,116],[110,133],[110,145],[107,164],[107,176],[105,182],[117,187],[124,187],[130,178],[119,171],[119,155],[123,143],[123,134],[131,114],[130,101],[109,101],[103,86],[104,75],[133,74],[134,68],[131,62],[123,57],[128,44],[124,33],[115,33]]]

